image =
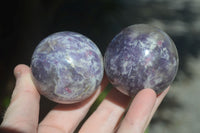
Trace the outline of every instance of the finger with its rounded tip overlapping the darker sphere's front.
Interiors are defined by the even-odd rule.
[[[140,91],[133,99],[118,133],[143,133],[155,103],[156,93],[154,90],[144,89]]]

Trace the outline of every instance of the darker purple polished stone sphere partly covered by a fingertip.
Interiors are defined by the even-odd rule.
[[[170,37],[146,24],[122,30],[110,42],[104,57],[109,80],[129,96],[144,88],[161,93],[174,80],[178,64],[177,49]]]

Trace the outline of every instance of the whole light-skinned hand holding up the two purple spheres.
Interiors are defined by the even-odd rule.
[[[104,77],[98,90],[90,98],[76,104],[58,104],[38,124],[40,94],[31,80],[30,68],[18,65],[14,69],[14,75],[16,86],[0,130],[8,133],[72,133],[108,84]],[[157,96],[154,90],[143,89],[131,100],[112,89],[79,132],[143,133],[168,90],[169,88]],[[128,106],[124,119],[120,121]]]

